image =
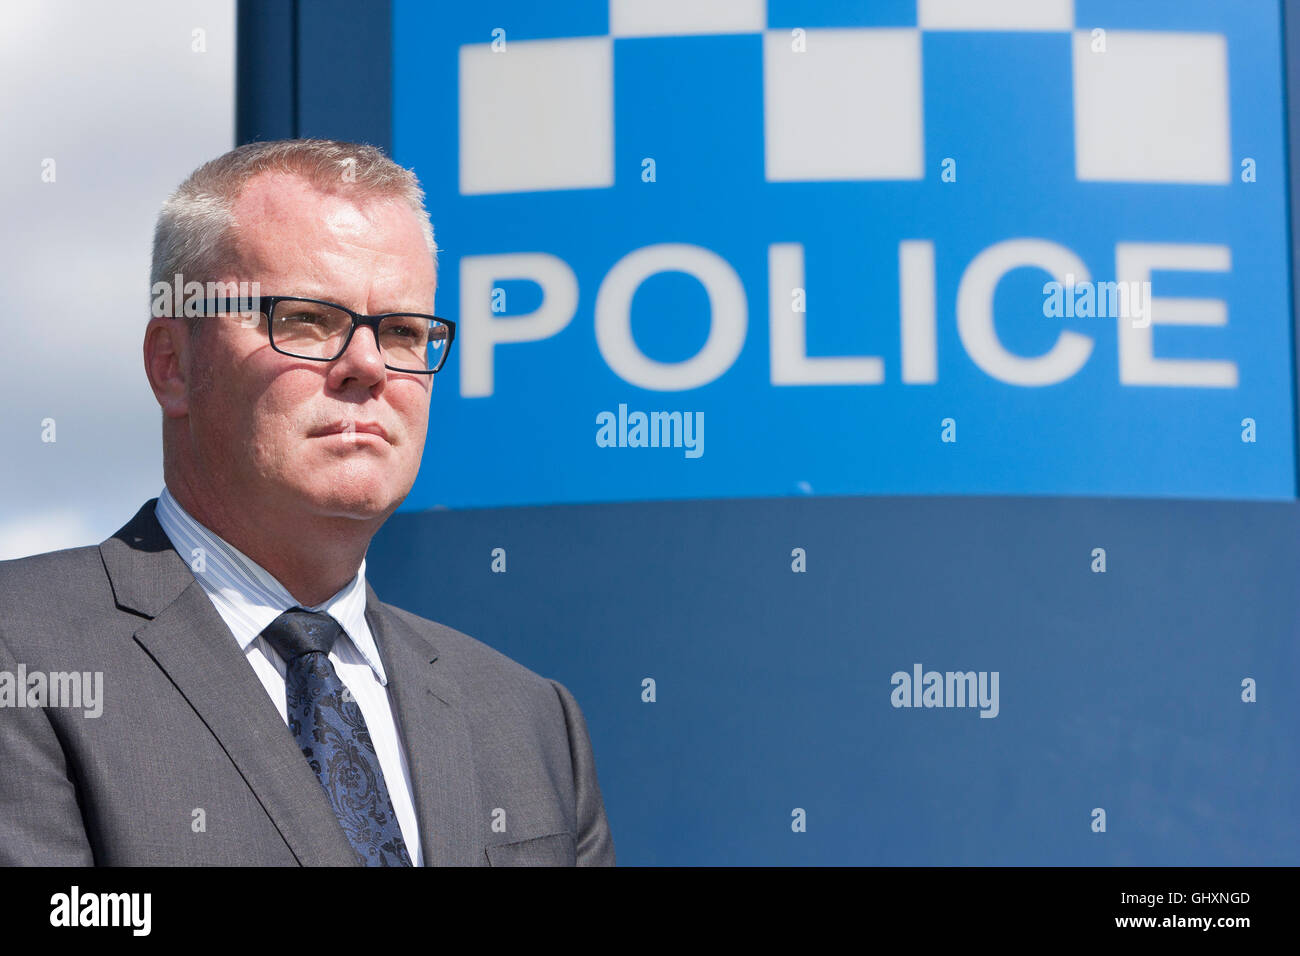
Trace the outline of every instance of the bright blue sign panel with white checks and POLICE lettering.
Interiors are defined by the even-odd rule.
[[[1280,51],[1226,0],[396,0],[459,323],[406,507],[1294,498]]]

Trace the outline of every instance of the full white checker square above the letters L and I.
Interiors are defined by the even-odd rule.
[[[763,131],[768,182],[920,179],[920,31],[766,31]]]

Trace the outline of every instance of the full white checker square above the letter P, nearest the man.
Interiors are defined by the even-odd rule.
[[[460,194],[614,185],[614,40],[460,48]]]

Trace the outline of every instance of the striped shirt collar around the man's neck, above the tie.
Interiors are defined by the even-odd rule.
[[[188,555],[190,570],[204,591],[220,596],[224,602],[238,609],[239,619],[246,626],[231,628],[231,632],[239,641],[240,650],[247,652],[248,645],[272,620],[290,607],[302,606],[269,571],[195,520],[181,507],[166,485],[159,494],[155,514],[181,557]],[[374,671],[378,682],[386,685],[384,663],[380,661],[378,648],[365,620],[365,598],[363,558],[352,580],[333,597],[307,610],[325,611],[334,618]]]

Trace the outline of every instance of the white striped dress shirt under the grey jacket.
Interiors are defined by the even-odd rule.
[[[302,605],[265,568],[199,524],[166,486],[159,494],[155,512],[172,545],[190,564],[217,614],[230,627],[244,658],[287,726],[285,662],[261,632],[282,613]],[[343,628],[329,659],[339,680],[361,708],[411,861],[416,866],[424,866],[415,801],[411,797],[411,771],[398,737],[396,717],[385,689],[389,680],[370,627],[365,622],[365,559],[363,558],[356,576],[342,591],[307,610],[326,611]]]

